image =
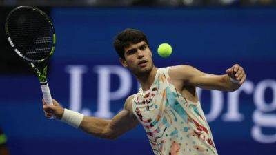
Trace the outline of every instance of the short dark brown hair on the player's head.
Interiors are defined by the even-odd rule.
[[[148,45],[148,39],[146,38],[146,34],[144,34],[144,32],[127,28],[115,37],[113,45],[117,54],[124,59],[124,48],[128,48],[131,44],[139,43],[141,41],[145,41]]]

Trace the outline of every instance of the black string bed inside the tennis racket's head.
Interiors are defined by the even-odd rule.
[[[49,56],[53,31],[46,17],[35,10],[18,10],[8,22],[10,37],[24,56],[33,60]]]

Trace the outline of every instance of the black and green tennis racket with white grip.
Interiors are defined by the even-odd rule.
[[[53,54],[56,43],[52,21],[38,8],[19,6],[8,14],[5,30],[14,52],[37,74],[43,99],[52,105],[46,79],[48,59]]]

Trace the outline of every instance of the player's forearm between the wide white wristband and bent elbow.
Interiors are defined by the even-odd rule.
[[[79,125],[79,129],[87,132],[88,134],[92,134],[93,136],[97,136],[98,138],[111,139],[112,134],[110,134],[110,131],[108,130],[109,124],[110,120],[84,116],[81,124]]]

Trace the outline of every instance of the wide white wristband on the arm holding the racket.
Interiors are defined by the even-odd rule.
[[[84,115],[80,114],[79,112],[74,112],[65,108],[61,121],[78,128],[81,124],[83,116]]]

